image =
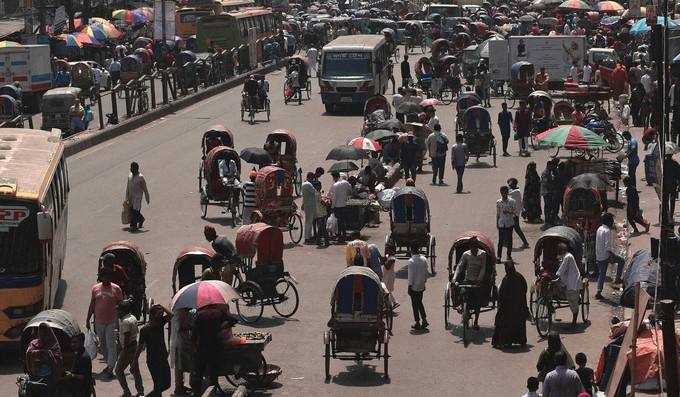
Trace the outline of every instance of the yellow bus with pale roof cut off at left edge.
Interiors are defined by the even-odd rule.
[[[0,347],[52,308],[66,256],[68,171],[61,132],[0,129]]]

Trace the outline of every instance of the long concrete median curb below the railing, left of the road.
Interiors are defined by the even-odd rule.
[[[286,60],[287,58],[279,60],[280,65],[279,68],[281,66],[286,65]],[[255,68],[239,76],[232,77],[231,79],[223,83],[213,85],[207,89],[204,89],[192,95],[177,99],[176,101],[169,102],[167,105],[157,105],[158,107],[156,109],[149,111],[141,116],[127,119],[111,128],[105,128],[103,130],[97,131],[80,132],[64,140],[65,141],[64,153],[66,157],[73,156],[91,147],[99,145],[100,143],[119,137],[137,128],[143,127],[144,125],[154,120],[158,120],[161,117],[175,113],[178,110],[187,108],[197,102],[203,101],[212,96],[221,94],[226,90],[237,87],[244,83],[249,74],[254,73],[267,74],[274,70],[278,70],[279,68],[277,68],[276,65],[274,64]]]

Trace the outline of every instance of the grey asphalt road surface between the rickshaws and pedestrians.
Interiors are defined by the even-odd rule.
[[[235,238],[237,229],[231,228],[228,214],[221,214],[215,207],[210,207],[206,220],[199,216],[197,176],[201,158],[200,139],[208,126],[224,124],[229,127],[234,132],[237,150],[261,146],[266,135],[276,128],[288,129],[297,137],[298,158],[303,172],[317,166],[328,168],[331,162],[324,160],[328,151],[358,136],[362,123],[360,113],[325,114],[316,82],[312,99],[304,100],[299,106],[284,105],[282,72],[269,75],[269,80],[271,122],[263,121],[266,117],[262,114],[258,115],[255,125],[241,122],[239,89],[232,89],[69,159],[71,195],[68,255],[63,274],[66,286],[64,309],[73,312],[84,323],[89,291],[96,278],[97,259],[101,249],[109,242],[129,240],[141,247],[148,262],[147,296],[157,302],[168,303],[172,295],[172,266],[176,255],[189,246],[209,246],[203,239],[204,225],[214,225],[218,233],[226,234],[232,240]],[[500,99],[492,100],[494,121],[500,102]],[[451,138],[454,136],[454,110],[453,105],[440,106],[437,112],[443,131]],[[500,136],[495,126],[494,133]],[[471,331],[471,343],[465,347],[458,325],[459,316],[454,315],[453,329],[445,330],[442,308],[447,281],[446,257],[453,239],[461,232],[479,230],[497,242],[494,204],[499,197],[498,189],[509,177],[519,179],[523,187],[524,170],[529,159],[517,156],[514,142],[511,142],[510,152],[513,157],[498,157],[497,168],[489,165],[489,158],[482,158],[479,163],[472,159],[465,171],[465,194],[454,194],[455,172],[448,167],[448,159],[445,185],[429,185],[429,165],[425,166],[425,174],[419,176],[417,185],[425,190],[430,201],[432,233],[438,242],[438,273],[429,279],[424,299],[431,325],[427,331],[411,330],[413,317],[406,293],[406,261],[399,261],[395,294],[401,307],[397,309],[394,336],[390,341],[389,382],[383,380],[382,361],[366,361],[357,365],[338,360],[331,361],[333,377],[330,382],[325,382],[322,336],[330,318],[331,288],[337,274],[345,267],[345,248],[338,245],[327,249],[293,245],[285,235],[285,268],[300,282],[297,314],[283,319],[271,307],[265,307],[264,317],[254,327],[239,325],[236,328],[237,332],[250,329],[272,332],[273,342],[264,354],[269,363],[283,368],[277,388],[255,395],[524,394],[526,378],[536,375],[536,360],[546,347],[546,342],[539,338],[535,328],[527,323],[526,348],[496,350],[491,347],[494,312],[485,313],[480,318],[481,329]],[[547,159],[547,151],[534,152],[530,158],[537,162],[539,172]],[[144,206],[142,211],[147,221],[138,232],[131,232],[120,224],[121,203],[131,161],[139,162],[151,193],[151,205]],[[244,167],[244,175],[248,169]],[[324,190],[328,190],[330,175],[325,175],[322,183]],[[653,201],[647,201],[647,197],[643,196],[643,207],[653,210]],[[385,235],[389,233],[386,213],[382,214],[382,220],[380,227],[366,228],[362,232],[365,239],[378,244],[381,249]],[[532,248],[513,253],[518,261],[517,269],[528,281],[533,279],[533,243],[541,233],[539,226],[522,224]],[[639,240],[638,244],[644,245],[645,237]],[[518,241],[515,236],[516,246],[520,245]],[[500,283],[502,268],[499,267],[498,273],[497,282]],[[609,287],[605,292],[610,299],[592,300],[593,287],[591,283],[591,322],[580,325],[576,331],[563,332],[564,343],[572,355],[585,352],[591,367],[596,366],[600,348],[607,341],[611,311],[618,301],[611,295]],[[560,309],[557,317],[567,322],[570,312]],[[564,326],[558,322],[556,329],[563,330]],[[8,390],[6,386],[14,382],[21,369],[14,357],[3,355],[0,360],[1,389]],[[94,363],[97,372],[103,367],[99,360]],[[150,390],[151,380],[145,365],[142,365],[142,374],[146,388]],[[101,375],[97,378],[99,395],[120,394],[115,380],[108,381]]]

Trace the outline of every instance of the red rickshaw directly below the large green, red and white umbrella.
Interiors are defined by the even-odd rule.
[[[564,225],[575,229],[583,241],[584,270],[596,266],[595,235],[607,209],[607,184],[597,174],[585,173],[569,180],[564,191]]]

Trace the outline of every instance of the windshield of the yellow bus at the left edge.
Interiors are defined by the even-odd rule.
[[[35,274],[41,253],[36,204],[0,201],[0,277]]]

